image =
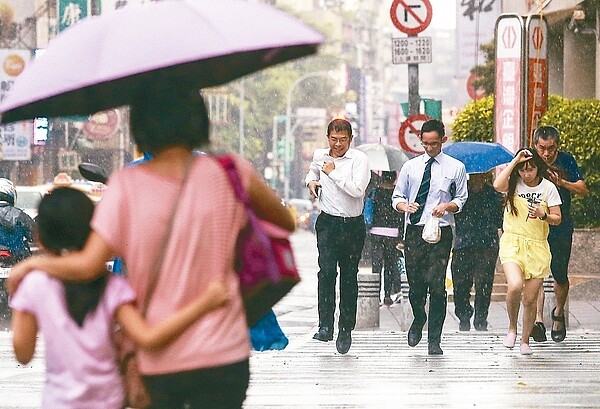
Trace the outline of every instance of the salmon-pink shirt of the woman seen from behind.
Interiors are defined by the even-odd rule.
[[[252,166],[236,158],[236,167],[248,188]],[[196,158],[190,172],[185,192],[180,194],[180,180],[151,173],[144,165],[123,169],[111,177],[92,220],[94,231],[125,260],[129,282],[143,305],[148,273],[162,245],[172,206],[178,206],[147,313],[150,324],[195,299],[210,280],[225,280],[233,295],[227,306],[205,315],[165,349],[140,351],[140,371],[145,374],[227,365],[250,356],[233,268],[238,232],[246,223],[245,209],[215,159]]]

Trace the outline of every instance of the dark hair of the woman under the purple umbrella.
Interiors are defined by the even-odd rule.
[[[140,151],[156,154],[173,146],[209,143],[209,118],[197,88],[186,82],[146,82],[131,103],[131,133]]]

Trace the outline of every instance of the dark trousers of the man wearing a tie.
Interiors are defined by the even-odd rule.
[[[428,342],[440,342],[446,319],[446,266],[452,248],[452,228],[442,227],[442,237],[435,244],[421,238],[422,226],[406,228],[404,260],[410,287],[408,299],[413,310],[413,326],[423,327],[427,321],[425,302],[429,292]]]

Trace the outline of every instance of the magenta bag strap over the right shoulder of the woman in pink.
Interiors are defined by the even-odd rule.
[[[250,205],[250,196],[248,195],[248,192],[246,192],[244,190],[244,187],[242,186],[242,180],[240,179],[240,175],[235,167],[235,162],[233,161],[233,158],[230,155],[219,155],[219,156],[215,156],[215,159],[217,159],[219,164],[225,170],[225,173],[227,174],[229,182],[231,183],[231,186],[233,187],[233,192],[235,193],[235,196],[238,198],[238,200],[240,202],[242,202],[244,204],[244,207],[246,208],[246,215],[248,216],[248,222],[252,226],[252,229],[254,231],[256,238],[258,240],[260,240],[261,244],[265,248],[268,248],[272,253],[273,245],[271,244],[271,240],[269,240],[269,237],[267,236],[263,227],[261,226],[258,216],[256,215],[256,213],[254,212],[254,209]],[[267,271],[265,271],[265,273],[267,275],[269,275],[269,278],[271,280],[273,280],[274,282],[279,281],[280,277],[279,277],[279,275],[276,274],[277,262],[274,260],[273,257],[270,257],[267,260],[267,262],[272,265],[272,268],[267,269]]]

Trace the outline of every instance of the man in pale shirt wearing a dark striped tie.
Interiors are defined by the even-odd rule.
[[[429,355],[442,355],[442,327],[446,318],[446,266],[452,248],[454,213],[467,201],[465,165],[442,152],[448,139],[444,124],[431,119],[420,133],[423,155],[402,166],[392,196],[392,207],[406,213],[405,265],[408,297],[414,320],[408,331],[408,345],[416,346],[427,321],[425,302],[429,293],[427,341]],[[431,218],[439,218],[441,238],[430,243],[422,238],[423,227]]]

